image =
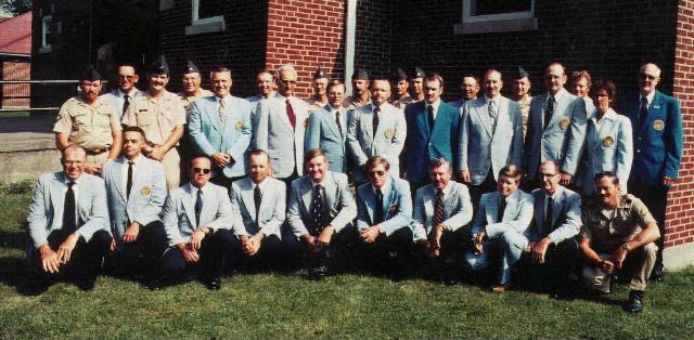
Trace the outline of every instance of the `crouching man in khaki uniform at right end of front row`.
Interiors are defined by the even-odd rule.
[[[579,247],[586,264],[581,276],[589,288],[609,292],[612,276],[629,269],[631,292],[625,309],[639,313],[655,265],[658,225],[641,199],[620,194],[616,174],[599,173],[594,183],[596,196],[583,208]]]

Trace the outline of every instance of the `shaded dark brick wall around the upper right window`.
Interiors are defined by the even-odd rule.
[[[507,73],[516,65],[530,73],[534,92],[541,93],[551,61],[615,80],[620,91],[635,90],[643,62],[673,64],[677,5],[677,0],[535,1],[537,30],[455,35],[461,0],[400,1],[393,14],[393,65],[440,73],[449,81],[448,99],[459,99],[464,73],[483,75],[492,67]],[[663,77],[661,90],[669,93],[672,69],[665,67]]]

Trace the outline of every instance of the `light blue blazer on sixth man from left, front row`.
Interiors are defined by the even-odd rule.
[[[393,171],[393,170],[391,170]],[[386,188],[387,187],[387,193]],[[381,230],[390,236],[397,230],[412,223],[412,196],[410,183],[397,178],[389,178],[384,185],[383,218]],[[369,228],[373,225],[376,209],[376,194],[371,183],[365,183],[357,188],[357,231]]]

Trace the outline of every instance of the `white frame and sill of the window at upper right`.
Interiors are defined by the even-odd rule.
[[[463,0],[462,21],[455,25],[457,35],[538,29],[535,0],[530,0],[530,11],[473,15],[476,1],[488,0]]]

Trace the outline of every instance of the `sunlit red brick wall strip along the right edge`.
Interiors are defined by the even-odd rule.
[[[694,241],[694,1],[680,1],[674,47],[673,95],[682,105],[684,155],[680,179],[668,195],[665,246]]]

